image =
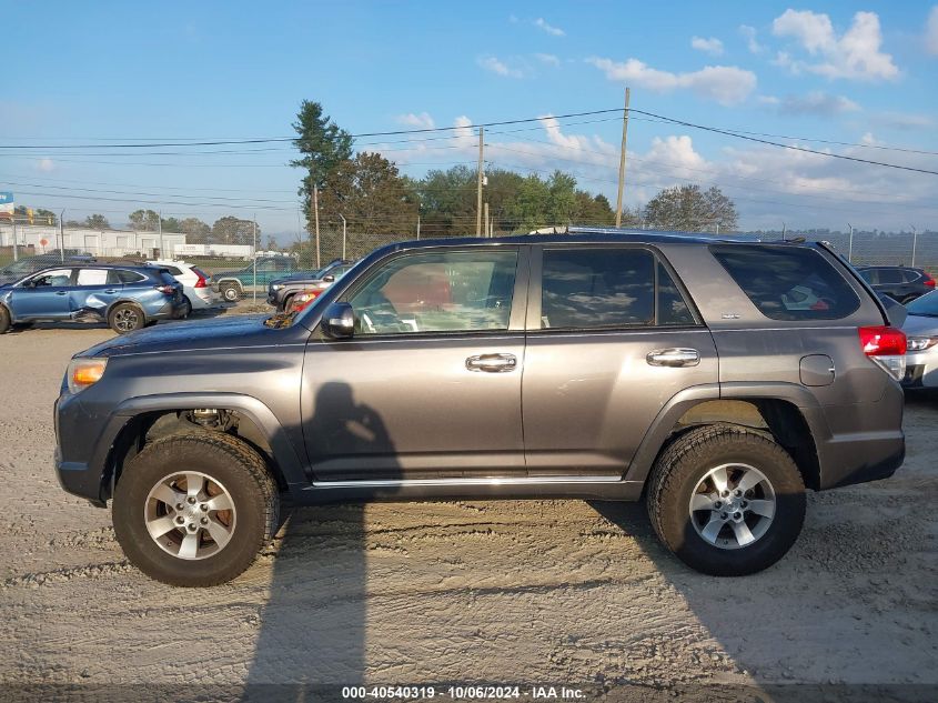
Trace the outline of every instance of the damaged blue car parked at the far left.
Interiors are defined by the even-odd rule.
[[[65,263],[0,285],[0,333],[33,322],[105,322],[125,334],[185,311],[182,285],[159,267]]]

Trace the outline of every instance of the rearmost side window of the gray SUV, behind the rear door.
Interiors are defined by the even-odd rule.
[[[714,244],[710,253],[773,320],[839,320],[860,307],[850,284],[813,249]]]

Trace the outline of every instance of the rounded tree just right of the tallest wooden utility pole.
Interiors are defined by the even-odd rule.
[[[666,188],[645,205],[645,220],[657,227],[688,232],[736,229],[736,205],[716,187],[702,191],[699,185]]]

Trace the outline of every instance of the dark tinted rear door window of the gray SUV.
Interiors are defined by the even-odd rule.
[[[644,249],[544,251],[542,329],[694,324],[670,275]]]

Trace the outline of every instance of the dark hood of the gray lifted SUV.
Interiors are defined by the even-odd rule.
[[[264,324],[270,315],[236,315],[204,322],[169,322],[114,337],[87,349],[79,356],[121,356],[154,352],[225,349],[286,344],[309,337],[305,328],[274,329]],[[299,325],[297,325],[299,327]]]

